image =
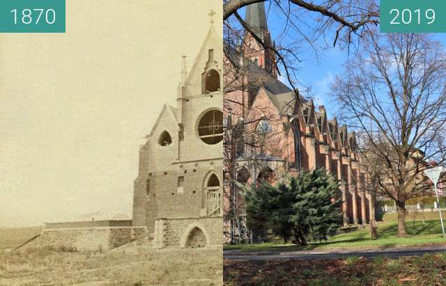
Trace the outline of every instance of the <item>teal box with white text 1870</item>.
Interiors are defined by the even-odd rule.
[[[0,0],[0,33],[65,33],[66,0]]]

